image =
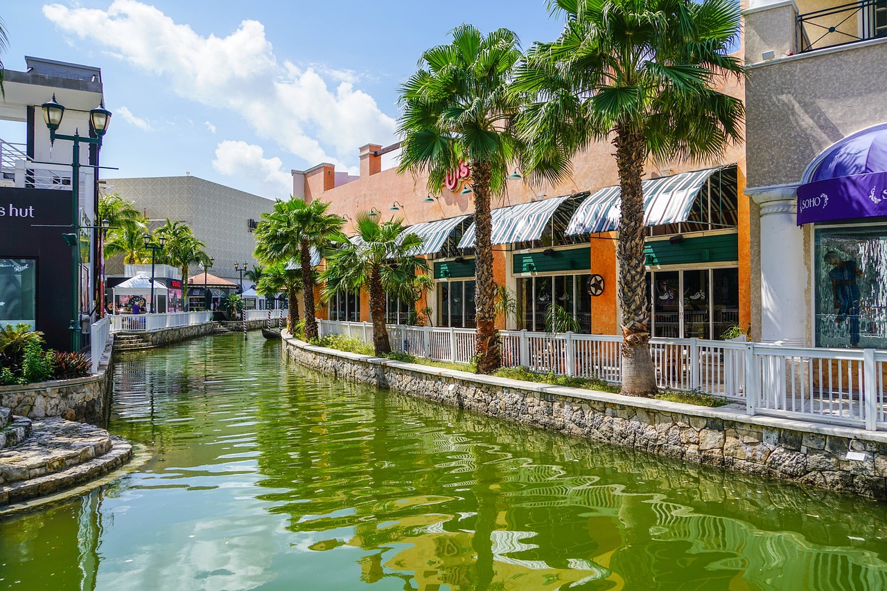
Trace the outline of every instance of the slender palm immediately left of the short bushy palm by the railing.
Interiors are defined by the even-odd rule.
[[[257,258],[268,262],[299,261],[302,267],[305,338],[318,338],[311,248],[326,248],[330,236],[341,232],[345,224],[341,216],[326,213],[329,205],[326,201],[305,203],[299,198],[278,201],[274,204],[274,211],[262,214],[262,221],[255,229]],[[290,307],[294,305],[294,301],[290,302]]]

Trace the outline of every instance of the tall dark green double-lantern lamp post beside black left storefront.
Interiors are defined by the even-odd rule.
[[[96,137],[82,137],[79,129],[75,129],[73,136],[57,134],[62,117],[65,115],[65,107],[52,99],[41,105],[43,109],[43,121],[50,130],[50,144],[57,139],[74,142],[71,159],[71,234],[63,235],[65,242],[72,246],[71,252],[71,324],[68,330],[71,334],[71,351],[80,350],[80,144],[94,144],[101,149],[102,137],[105,136],[108,124],[111,122],[111,112],[105,108],[104,103],[90,111],[90,127],[95,131]]]

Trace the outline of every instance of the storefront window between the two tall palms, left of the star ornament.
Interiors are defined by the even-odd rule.
[[[518,279],[522,325],[519,329],[546,332],[548,308],[556,304],[576,316],[580,332],[592,330],[592,296],[588,293],[590,275],[559,275]]]

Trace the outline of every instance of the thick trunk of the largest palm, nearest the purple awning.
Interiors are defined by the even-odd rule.
[[[644,264],[644,135],[625,124],[616,126],[616,166],[622,190],[619,221],[619,302],[622,304],[622,393],[645,396],[656,392],[650,359],[649,304]]]

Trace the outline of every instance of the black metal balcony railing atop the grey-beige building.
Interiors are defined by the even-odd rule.
[[[887,37],[887,0],[862,0],[797,15],[797,51]]]

